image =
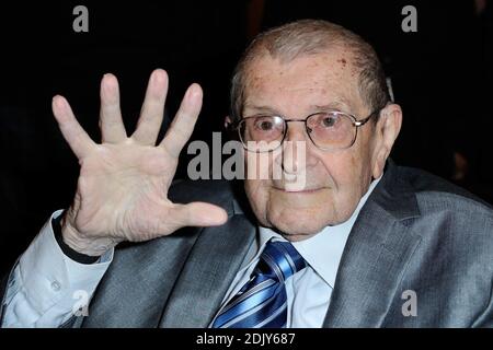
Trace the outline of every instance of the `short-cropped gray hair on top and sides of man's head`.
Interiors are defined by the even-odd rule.
[[[371,112],[382,108],[390,96],[383,67],[371,45],[341,25],[321,20],[300,20],[261,33],[246,48],[231,80],[232,120],[241,118],[249,69],[256,59],[268,52],[284,63],[299,56],[326,52],[332,47],[351,50],[351,62],[359,71],[358,90],[363,101]]]

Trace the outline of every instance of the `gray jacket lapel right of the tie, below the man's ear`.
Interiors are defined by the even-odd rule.
[[[414,190],[389,163],[349,234],[324,327],[385,324],[406,262],[420,243],[406,221],[419,214]]]

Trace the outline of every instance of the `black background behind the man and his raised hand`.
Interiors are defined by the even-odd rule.
[[[74,33],[72,9],[89,9]],[[417,33],[401,10],[417,9]],[[154,68],[170,74],[171,118],[192,82],[205,91],[192,139],[209,141],[228,114],[229,78],[259,31],[325,19],[368,39],[391,78],[404,124],[393,160],[458,183],[493,202],[492,1],[59,1],[0,5],[0,269],[49,214],[72,199],[78,163],[51,116],[65,95],[98,140],[99,84],[118,77],[128,132]],[[168,118],[168,119],[169,119]],[[164,126],[165,127],[165,126]],[[226,139],[226,136],[223,137]],[[186,155],[184,155],[186,160]],[[177,176],[186,176],[182,162]],[[462,172],[458,172],[461,170]],[[460,174],[461,173],[461,174]]]

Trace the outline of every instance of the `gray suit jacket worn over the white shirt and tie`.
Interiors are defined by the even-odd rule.
[[[70,326],[208,326],[254,244],[255,220],[227,182],[182,182],[170,196],[219,205],[229,220],[118,246],[89,316]],[[323,325],[493,327],[492,283],[492,209],[390,162],[349,234]],[[415,292],[415,316],[402,312],[405,291]]]

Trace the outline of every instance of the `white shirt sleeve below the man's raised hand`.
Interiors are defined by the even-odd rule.
[[[89,302],[111,261],[113,249],[98,264],[73,261],[60,249],[51,219],[21,256],[4,296],[2,327],[58,327],[73,315],[74,306]]]

